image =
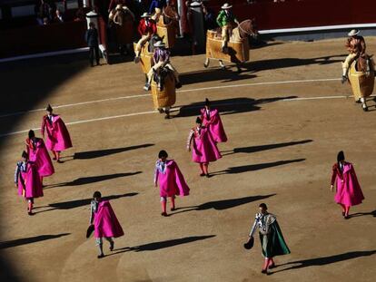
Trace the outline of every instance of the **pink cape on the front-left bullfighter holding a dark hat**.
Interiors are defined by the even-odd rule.
[[[114,209],[108,200],[103,200],[98,204],[98,210],[94,213],[94,236],[103,237],[122,237],[124,231],[117,220]]]

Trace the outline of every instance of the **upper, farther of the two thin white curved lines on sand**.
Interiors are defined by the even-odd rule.
[[[232,85],[223,85],[223,86],[211,86],[211,87],[203,87],[203,88],[185,89],[185,90],[178,90],[177,92],[198,92],[198,91],[223,89],[223,88],[250,87],[250,86],[289,84],[289,83],[322,83],[322,82],[334,82],[334,81],[340,81],[340,80],[341,79],[338,79],[338,78],[323,78],[323,79],[294,80],[294,81],[281,81],[281,82],[269,82],[269,83],[268,82],[265,82],[265,83],[245,83],[245,84],[232,84]],[[113,98],[100,99],[100,100],[87,101],[87,102],[68,103],[68,104],[64,104],[64,105],[56,105],[56,106],[54,106],[54,109],[74,107],[74,106],[80,106],[80,105],[85,105],[85,104],[90,104],[90,103],[98,103],[98,102],[113,102],[113,101],[117,101],[117,100],[134,99],[134,98],[141,98],[141,97],[147,97],[147,96],[151,96],[151,94],[147,93],[147,94],[113,97]],[[24,113],[27,113],[27,112],[42,112],[42,111],[45,111],[45,109],[34,109],[34,110],[24,111],[24,112],[21,112],[21,111],[20,112],[9,112],[9,113],[0,114],[0,118],[20,115],[20,114],[24,114]]]

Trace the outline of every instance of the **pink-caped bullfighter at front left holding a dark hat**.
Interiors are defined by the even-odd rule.
[[[114,250],[114,239],[124,235],[122,226],[114,214],[114,209],[108,200],[102,199],[101,192],[95,191],[90,204],[90,226],[94,227],[94,237],[99,248],[97,258],[104,258],[105,238],[110,242],[110,250]]]

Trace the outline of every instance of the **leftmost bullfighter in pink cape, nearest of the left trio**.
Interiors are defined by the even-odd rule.
[[[34,199],[43,197],[42,183],[35,162],[28,160],[25,151],[22,159],[15,167],[15,187],[18,188],[18,195],[26,199],[27,213],[32,216]]]

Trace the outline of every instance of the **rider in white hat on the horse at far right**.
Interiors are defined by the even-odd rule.
[[[361,32],[357,29],[352,29],[348,34],[349,38],[346,42],[346,47],[349,50],[349,55],[346,57],[345,61],[342,63],[342,83],[345,83],[348,79],[348,72],[351,63],[356,60],[356,58],[365,54],[366,44],[363,36],[359,35]]]

